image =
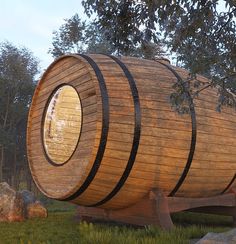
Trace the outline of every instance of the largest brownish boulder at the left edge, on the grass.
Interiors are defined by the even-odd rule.
[[[0,183],[0,221],[23,221],[24,201],[22,195],[7,183]]]

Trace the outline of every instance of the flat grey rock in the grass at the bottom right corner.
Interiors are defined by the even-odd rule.
[[[235,244],[236,229],[224,233],[208,233],[196,244]]]

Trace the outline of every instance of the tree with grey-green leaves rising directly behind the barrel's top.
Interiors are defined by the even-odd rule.
[[[96,21],[82,22],[78,14],[75,14],[65,19],[59,30],[53,32],[53,48],[49,49],[49,53],[53,57],[66,53],[103,53],[143,58],[154,58],[163,53],[161,45],[151,40],[138,44],[136,34],[132,31],[130,30],[128,39],[110,38],[105,26],[98,25]]]

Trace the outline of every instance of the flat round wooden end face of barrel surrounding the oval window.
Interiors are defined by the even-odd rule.
[[[64,65],[65,63],[66,67]],[[58,59],[48,68],[36,88],[28,119],[27,150],[29,165],[35,183],[44,194],[51,198],[61,199],[68,197],[84,182],[86,173],[89,172],[93,165],[93,154],[97,149],[95,137],[99,137],[100,134],[96,128],[96,119],[100,116],[97,115],[97,109],[100,106],[96,105],[94,110],[89,114],[86,112],[88,106],[93,106],[96,101],[100,100],[99,88],[97,83],[94,83],[92,75],[90,75],[90,79],[87,79],[86,83],[88,87],[93,87],[93,90],[87,96],[80,95],[80,85],[84,84],[83,75],[80,73],[75,75],[74,73],[68,72],[68,69],[75,65],[77,65],[78,69],[82,65],[85,72],[88,72],[86,63],[76,57]],[[49,86],[47,95],[45,95],[44,89],[47,87],[45,84],[47,84],[48,80],[52,79],[51,69],[54,72],[53,77],[63,77],[63,79],[58,79],[52,86]],[[65,165],[55,167],[48,162],[44,154],[41,126],[47,100],[54,89],[62,84],[73,86],[79,94],[83,123],[80,140],[73,157]],[[41,89],[43,89],[42,93]],[[92,121],[95,121],[95,123],[91,123]],[[55,184],[55,180],[57,184]]]

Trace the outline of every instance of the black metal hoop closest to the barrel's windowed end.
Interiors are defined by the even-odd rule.
[[[101,131],[101,138],[100,143],[97,151],[97,155],[95,158],[95,161],[93,163],[93,166],[84,181],[84,183],[81,185],[81,187],[70,197],[63,199],[63,201],[71,201],[75,198],[77,198],[79,195],[81,195],[90,185],[90,183],[93,181],[103,158],[106,143],[107,143],[107,136],[108,136],[108,130],[109,130],[109,98],[108,98],[108,92],[106,88],[106,83],[104,80],[104,77],[102,75],[101,70],[99,69],[98,65],[94,62],[92,58],[89,56],[86,56],[84,54],[78,54],[82,58],[84,58],[93,68],[100,87],[101,91],[101,97],[102,97],[102,131]]]

